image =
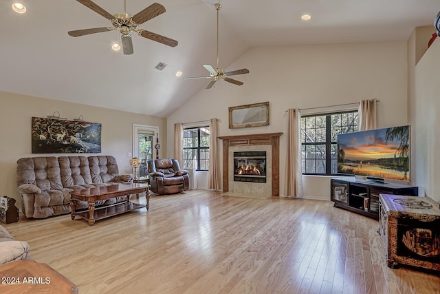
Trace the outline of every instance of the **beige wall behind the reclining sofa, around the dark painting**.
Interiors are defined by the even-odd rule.
[[[133,123],[159,127],[159,140],[166,149],[166,119],[143,114],[92,107],[78,103],[67,103],[50,99],[0,92],[0,196],[6,195],[21,200],[17,192],[17,160],[33,156],[67,156],[70,154],[32,154],[32,116],[46,117],[59,112],[61,117],[73,120],[80,115],[85,121],[102,124],[101,153],[81,154],[111,155],[118,161],[121,174],[132,173],[128,154],[133,150]],[[165,151],[160,149],[161,156]],[[78,154],[76,154],[78,155]]]

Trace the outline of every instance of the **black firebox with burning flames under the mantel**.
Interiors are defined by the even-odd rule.
[[[234,182],[266,182],[266,151],[234,152]]]

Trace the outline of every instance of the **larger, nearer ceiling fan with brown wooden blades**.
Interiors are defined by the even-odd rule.
[[[173,39],[169,39],[166,36],[161,36],[159,34],[155,34],[153,32],[148,32],[147,30],[137,28],[137,25],[149,21],[150,19],[153,19],[154,17],[157,17],[158,15],[166,11],[164,6],[162,6],[159,3],[153,3],[151,4],[151,6],[148,6],[144,10],[137,12],[137,14],[132,16],[126,13],[126,9],[125,9],[126,0],[124,0],[124,12],[116,13],[113,15],[105,11],[104,9],[100,8],[100,6],[98,6],[96,3],[94,3],[91,0],[76,0],[76,1],[87,6],[91,10],[94,10],[94,12],[101,14],[102,17],[109,19],[109,21],[111,21],[111,24],[113,25],[113,28],[104,27],[104,28],[91,28],[85,30],[72,30],[67,32],[69,36],[84,36],[86,34],[95,34],[97,32],[108,32],[112,30],[118,30],[121,33],[122,50],[124,51],[124,54],[127,55],[133,54],[133,42],[131,41],[131,34],[130,34],[131,32],[135,32],[139,36],[143,36],[146,39],[150,39],[162,43],[164,45],[168,45],[170,47],[177,46],[177,41]]]

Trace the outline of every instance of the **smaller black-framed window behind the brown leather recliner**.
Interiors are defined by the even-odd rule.
[[[209,127],[184,129],[184,169],[209,169]]]

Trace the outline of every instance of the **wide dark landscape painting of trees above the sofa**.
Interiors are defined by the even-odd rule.
[[[32,154],[100,152],[100,123],[32,117]]]

